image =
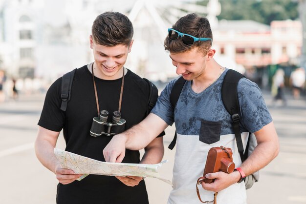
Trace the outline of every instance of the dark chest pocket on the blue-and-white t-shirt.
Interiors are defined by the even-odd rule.
[[[212,144],[220,140],[221,121],[201,121],[199,141]]]

